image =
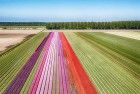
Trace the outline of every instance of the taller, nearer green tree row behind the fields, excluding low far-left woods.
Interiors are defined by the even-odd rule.
[[[140,29],[140,21],[119,22],[52,22],[47,29]]]

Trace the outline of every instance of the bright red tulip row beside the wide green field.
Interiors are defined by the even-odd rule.
[[[62,45],[64,48],[65,57],[68,63],[71,76],[71,86],[73,90],[76,90],[78,94],[96,94],[96,88],[93,86],[92,82],[89,80],[88,75],[84,71],[79,59],[74,53],[72,47],[70,46],[68,40],[63,33],[60,33]]]

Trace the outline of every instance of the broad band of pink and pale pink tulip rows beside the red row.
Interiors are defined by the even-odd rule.
[[[38,67],[29,94],[70,94],[66,60],[59,33],[52,33],[50,46],[46,48],[44,57]]]

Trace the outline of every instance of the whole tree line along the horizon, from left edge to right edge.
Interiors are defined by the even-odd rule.
[[[0,22],[0,26],[46,26],[47,29],[140,29],[140,21]]]

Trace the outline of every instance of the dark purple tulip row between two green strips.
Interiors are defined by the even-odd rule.
[[[51,33],[50,33],[51,34]],[[4,94],[19,94],[24,83],[26,82],[29,74],[31,73],[44,45],[46,44],[50,34],[44,38],[39,47],[35,50],[31,58],[23,66],[23,68],[16,75],[15,79],[10,83],[10,85],[5,90]]]

